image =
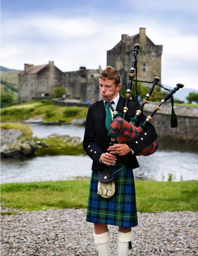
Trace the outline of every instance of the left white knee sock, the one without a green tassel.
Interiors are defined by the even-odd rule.
[[[99,235],[93,233],[93,237],[97,244],[99,256],[110,256],[110,231]]]

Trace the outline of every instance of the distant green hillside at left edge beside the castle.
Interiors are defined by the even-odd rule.
[[[21,70],[1,66],[1,93],[9,93],[14,99],[18,98],[18,73],[20,72]]]

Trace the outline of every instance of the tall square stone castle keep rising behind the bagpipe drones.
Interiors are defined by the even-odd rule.
[[[155,76],[161,79],[162,45],[155,45],[146,35],[146,29],[140,28],[139,34],[122,35],[121,41],[113,49],[107,51],[107,66],[116,68],[121,75],[121,83],[128,84],[128,74],[133,59],[134,44],[140,44],[137,55],[137,79],[153,81]],[[143,85],[148,86],[144,83]]]

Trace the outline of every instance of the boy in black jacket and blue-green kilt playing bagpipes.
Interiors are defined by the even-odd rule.
[[[125,100],[119,95],[121,88],[119,72],[107,66],[99,75],[99,85],[102,100],[92,104],[88,109],[83,147],[93,160],[86,221],[94,223],[93,237],[97,244],[99,256],[110,256],[110,231],[107,225],[116,225],[118,229],[118,256],[128,256],[132,241],[132,227],[138,225],[136,210],[136,193],[133,169],[139,164],[136,155],[157,138],[152,124],[147,125],[147,136],[136,143],[138,136],[126,144],[110,145],[110,123],[113,118],[112,110],[105,97],[119,113],[123,111]],[[126,120],[136,114],[139,104],[134,100],[128,102]],[[141,113],[136,126],[145,121]],[[141,135],[139,135],[141,136]],[[115,163],[115,165],[112,165]],[[97,194],[97,177],[99,172],[112,172],[116,183],[115,194],[104,198]]]

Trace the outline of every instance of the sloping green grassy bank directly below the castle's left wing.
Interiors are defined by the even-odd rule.
[[[49,100],[31,101],[24,104],[10,106],[1,109],[1,122],[21,121],[24,119],[44,116],[45,121],[58,121],[63,124],[70,124],[72,119],[85,118],[87,107],[62,107],[56,106]]]

